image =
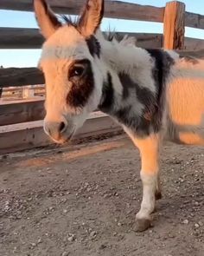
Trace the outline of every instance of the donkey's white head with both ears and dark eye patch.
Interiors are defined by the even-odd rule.
[[[46,81],[45,132],[56,142],[69,140],[102,95],[100,45],[94,36],[104,0],[87,0],[78,21],[62,24],[45,0],[34,0],[35,16],[46,42],[39,66]]]

